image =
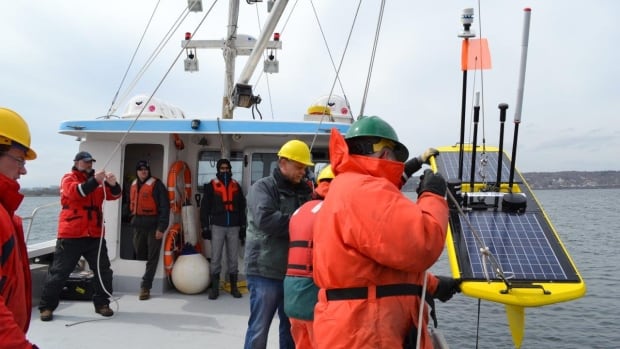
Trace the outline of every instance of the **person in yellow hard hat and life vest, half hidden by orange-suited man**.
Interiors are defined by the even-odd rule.
[[[312,280],[312,227],[323,199],[334,179],[330,165],[317,177],[315,200],[308,201],[293,213],[289,221],[289,250],[284,277],[284,312],[291,321],[291,335],[295,348],[315,347],[312,320],[318,287]]]

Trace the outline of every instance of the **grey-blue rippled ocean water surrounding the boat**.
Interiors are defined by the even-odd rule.
[[[525,311],[521,348],[620,348],[620,189],[535,192],[587,286],[583,298]],[[58,197],[27,197],[19,213],[30,216]],[[30,243],[55,237],[58,205],[38,211]],[[26,224],[27,225],[27,224]],[[447,256],[432,268],[449,274]],[[439,329],[451,348],[514,348],[503,305],[457,294],[437,302]]]

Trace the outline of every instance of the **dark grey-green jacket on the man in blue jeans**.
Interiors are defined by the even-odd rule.
[[[245,271],[247,275],[283,280],[288,261],[288,222],[311,199],[306,182],[293,184],[279,168],[252,185],[247,197]]]

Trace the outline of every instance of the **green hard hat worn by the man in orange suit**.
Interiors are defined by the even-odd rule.
[[[396,131],[394,131],[390,124],[378,116],[360,117],[351,125],[347,134],[344,136],[345,139],[357,137],[379,137],[388,139],[396,144],[394,147],[394,154],[399,161],[405,162],[407,158],[409,158],[409,150],[398,141]]]

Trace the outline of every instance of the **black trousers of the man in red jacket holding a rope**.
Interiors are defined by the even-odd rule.
[[[101,253],[99,253],[99,244],[101,242]],[[99,263],[97,256],[99,255]],[[41,294],[41,302],[39,309],[55,310],[58,307],[60,293],[65,286],[65,282],[80,257],[88,262],[88,266],[94,273],[94,294],[93,303],[96,307],[110,304],[108,293],[101,287],[99,281],[99,272],[101,272],[101,280],[105,289],[112,294],[112,269],[110,269],[110,259],[108,258],[108,248],[105,239],[99,238],[78,238],[78,239],[58,239],[56,240],[56,250],[54,251],[54,261],[50,267],[43,293]]]

